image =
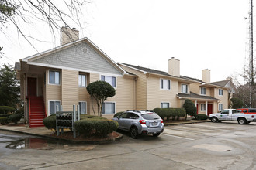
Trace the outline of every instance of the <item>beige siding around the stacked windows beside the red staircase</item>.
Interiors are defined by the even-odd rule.
[[[49,113],[49,101],[50,100],[58,100],[61,101],[61,84],[56,85],[56,84],[49,84],[49,70],[54,70],[54,69],[47,69],[46,70],[46,94],[45,94],[45,100],[46,100],[46,110],[47,110],[47,115],[50,115]],[[61,70],[54,70],[54,71],[59,71],[60,76]],[[61,77],[62,78],[62,77]]]

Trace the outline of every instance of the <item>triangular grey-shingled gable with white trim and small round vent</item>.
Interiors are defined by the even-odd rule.
[[[50,67],[65,67],[88,72],[127,74],[87,38],[29,56],[22,61],[29,64],[36,65],[38,63]]]

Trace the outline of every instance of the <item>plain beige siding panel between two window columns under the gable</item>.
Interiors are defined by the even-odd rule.
[[[62,70],[61,72],[61,105],[64,111],[73,110],[78,105],[78,71]]]

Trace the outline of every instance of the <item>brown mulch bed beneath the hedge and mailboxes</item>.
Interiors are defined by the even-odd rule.
[[[73,132],[66,131],[63,134],[60,133],[59,136],[57,134],[49,134],[48,136],[59,138],[59,139],[65,139],[65,140],[71,140],[71,141],[112,141],[114,138],[119,137],[120,134],[116,133],[116,131],[113,131],[111,134],[108,134],[106,137],[99,137],[99,136],[92,136],[86,138],[84,135],[79,135],[76,138],[73,136]]]

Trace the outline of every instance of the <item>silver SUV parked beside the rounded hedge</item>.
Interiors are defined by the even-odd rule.
[[[139,134],[159,136],[164,131],[163,120],[151,110],[127,110],[112,120],[119,123],[119,129],[129,131],[132,138]]]

